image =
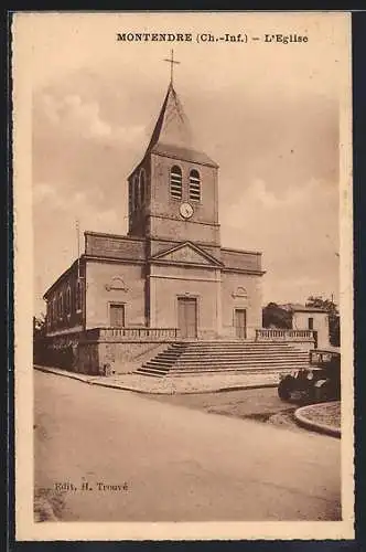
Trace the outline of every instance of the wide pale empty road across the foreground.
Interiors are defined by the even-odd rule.
[[[36,492],[62,484],[65,521],[340,519],[337,439],[36,371],[34,382]]]

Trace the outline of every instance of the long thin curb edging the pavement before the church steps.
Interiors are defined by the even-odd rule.
[[[176,392],[164,392],[164,391],[143,391],[140,389],[136,388],[130,388],[127,385],[121,385],[119,383],[112,383],[108,381],[101,381],[101,380],[94,380],[87,376],[86,374],[77,374],[75,372],[68,372],[68,371],[63,371],[62,369],[54,369],[54,368],[49,368],[49,367],[42,367],[40,364],[34,364],[33,368],[35,370],[39,370],[40,372],[46,372],[46,373],[52,373],[55,375],[61,375],[63,378],[69,378],[72,380],[78,380],[84,383],[88,383],[89,385],[99,385],[101,388],[109,388],[109,389],[120,389],[121,391],[132,391],[133,393],[140,393],[144,395],[202,395],[206,393],[223,393],[225,391],[245,391],[249,389],[266,389],[266,388],[277,388],[277,383],[254,383],[254,384],[247,384],[247,385],[237,385],[237,386],[228,386],[228,388],[218,388],[218,389],[213,389],[213,390],[204,390],[204,391],[181,391]],[[97,375],[95,378],[98,378]],[[99,376],[103,378],[103,376]]]

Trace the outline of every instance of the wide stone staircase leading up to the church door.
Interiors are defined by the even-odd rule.
[[[309,352],[289,342],[179,341],[134,373],[154,378],[204,373],[273,373],[309,365]]]

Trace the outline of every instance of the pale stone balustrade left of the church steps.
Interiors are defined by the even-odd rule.
[[[175,340],[180,337],[177,328],[93,328],[87,330],[87,339],[106,340]]]

